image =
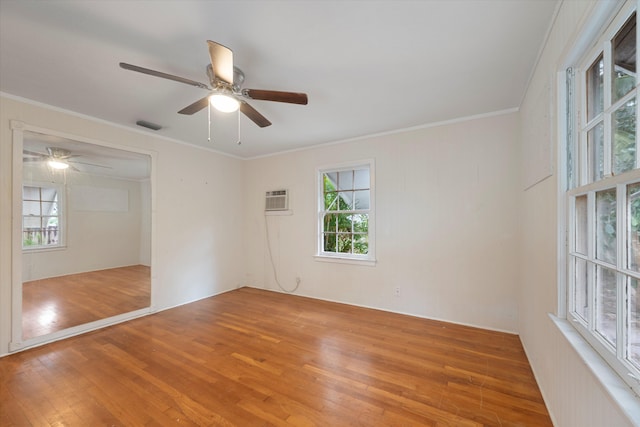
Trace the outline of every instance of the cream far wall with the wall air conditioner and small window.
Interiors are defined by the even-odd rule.
[[[504,113],[248,161],[246,284],[278,290],[264,193],[288,188],[293,215],[267,218],[285,288],[300,277],[301,295],[516,332],[516,136]],[[377,264],[316,261],[316,168],[368,158]]]

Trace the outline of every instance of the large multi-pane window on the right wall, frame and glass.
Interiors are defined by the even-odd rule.
[[[629,2],[568,87],[567,317],[640,391],[640,158],[636,13]],[[568,126],[569,129],[572,126]]]

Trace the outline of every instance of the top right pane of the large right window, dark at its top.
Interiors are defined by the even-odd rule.
[[[633,14],[613,39],[613,100],[636,85],[636,15]]]

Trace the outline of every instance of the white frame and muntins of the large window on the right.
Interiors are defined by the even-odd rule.
[[[640,105],[638,100],[640,99],[640,90],[638,84],[640,83],[640,75],[636,77],[636,87],[625,95],[620,100],[612,102],[611,100],[611,74],[607,70],[607,64],[611,61],[612,47],[608,41],[612,40],[617,34],[618,30],[626,23],[626,21],[632,16],[634,11],[638,11],[638,1],[631,0],[617,10],[615,18],[609,22],[608,27],[604,31],[593,32],[592,40],[586,41],[583,45],[588,44],[592,46],[591,51],[587,52],[583,50],[580,61],[574,59],[574,63],[578,64],[575,71],[575,78],[573,84],[568,84],[564,88],[564,92],[560,91],[560,108],[564,109],[567,113],[561,120],[560,130],[565,132],[565,135],[560,134],[561,141],[566,141],[564,147],[563,144],[559,146],[559,170],[568,172],[568,161],[571,156],[572,167],[574,169],[573,177],[568,173],[561,175],[559,179],[559,315],[567,318],[571,325],[577,330],[583,339],[585,339],[593,349],[602,357],[611,368],[619,375],[619,377],[625,382],[637,395],[640,395],[640,370],[638,367],[632,365],[625,360],[625,348],[627,344],[627,336],[625,334],[624,326],[627,316],[627,306],[625,304],[625,286],[623,277],[633,277],[640,279],[640,273],[629,271],[624,267],[624,260],[627,257],[625,239],[626,235],[621,233],[626,230],[626,185],[629,183],[640,182],[640,161],[638,156],[640,155],[640,129],[636,128],[636,169],[625,172],[618,176],[613,176],[611,173],[611,134],[612,134],[612,115],[617,108],[622,105],[626,100],[635,97],[636,98],[636,123],[638,123],[638,115]],[[609,13],[616,12],[610,10]],[[612,13],[613,14],[613,13]],[[636,21],[639,20],[638,14],[636,14]],[[593,30],[593,29],[592,29]],[[636,39],[638,30],[636,29]],[[595,43],[591,43],[597,40]],[[583,42],[585,42],[583,40]],[[640,43],[636,43],[637,47],[640,47]],[[586,54],[585,54],[586,53]],[[604,53],[605,58],[605,75],[604,75],[604,113],[601,113],[591,121],[587,122],[586,112],[586,72],[593,62]],[[575,52],[574,52],[575,54]],[[636,57],[637,57],[636,53]],[[564,73],[563,73],[564,74]],[[559,79],[560,82],[560,79]],[[561,85],[559,85],[562,87]],[[572,102],[574,104],[572,105]],[[602,117],[604,116],[604,117]],[[588,182],[588,176],[586,171],[587,153],[586,153],[586,133],[593,128],[597,122],[603,121],[605,123],[605,140],[604,140],[604,178],[592,183]],[[566,139],[565,139],[566,138]],[[571,188],[571,183],[575,182],[574,188]],[[604,189],[616,189],[616,212],[617,212],[617,257],[616,265],[606,264],[602,261],[595,259],[594,253],[594,233],[595,233],[595,218],[593,218],[593,212],[595,211],[595,193]],[[588,222],[587,227],[589,229],[588,245],[589,250],[586,256],[576,256],[574,250],[575,244],[575,224],[573,218],[575,218],[574,200],[581,195],[587,195],[588,201]],[[573,260],[576,258],[582,258],[587,261],[588,266],[587,275],[589,277],[589,311],[587,313],[587,319],[582,319],[580,315],[575,313],[575,307],[573,306],[572,295],[574,293],[575,277]],[[595,310],[596,310],[596,295],[595,295],[595,280],[593,274],[596,265],[606,266],[616,271],[617,277],[617,331],[616,331],[616,347],[611,346],[605,339],[603,339],[597,332],[595,332]],[[583,357],[586,357],[583,355]]]

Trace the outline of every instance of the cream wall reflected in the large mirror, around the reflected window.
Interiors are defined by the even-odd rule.
[[[75,172],[52,174],[40,164],[25,167],[25,171],[29,182],[64,186],[63,212],[67,227],[64,249],[23,254],[23,281],[138,265],[150,260],[150,223],[144,223],[143,219],[150,217],[151,205],[142,199],[143,194],[150,197],[149,192],[143,193],[143,183]],[[98,206],[91,200],[81,200],[86,198],[88,189],[93,190],[89,194],[117,192],[115,194],[124,198],[126,206],[117,211],[87,208],[87,203]],[[148,212],[142,211],[143,206]],[[149,240],[144,246],[142,236]]]

